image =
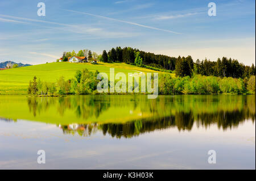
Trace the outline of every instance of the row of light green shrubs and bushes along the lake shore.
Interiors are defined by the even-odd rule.
[[[65,96],[94,94],[145,94],[145,93],[99,93],[97,84],[98,71],[77,70],[75,77],[67,81],[60,77],[56,82],[44,82],[34,77],[28,84],[28,95],[31,96]],[[117,80],[116,82],[118,82]],[[133,87],[134,90],[134,87]],[[214,77],[195,74],[192,77],[171,77],[171,74],[159,74],[159,95],[179,94],[255,94],[255,75],[249,79],[232,77]],[[141,91],[139,91],[141,92]],[[146,91],[147,92],[147,91]]]

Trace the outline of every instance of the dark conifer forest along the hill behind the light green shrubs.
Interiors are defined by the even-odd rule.
[[[205,58],[205,60],[197,59],[194,62],[191,56],[176,58],[144,52],[131,47],[116,47],[108,52],[103,50],[99,60],[102,62],[125,62],[151,69],[156,68],[156,70],[175,70],[176,77],[191,77],[193,74],[201,74],[216,77],[250,78],[251,75],[255,75],[254,64],[245,66],[232,58],[222,57],[222,59],[218,58],[217,61],[210,61]]]

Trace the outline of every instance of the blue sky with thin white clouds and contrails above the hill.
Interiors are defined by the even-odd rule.
[[[37,15],[39,2],[46,16]],[[0,61],[43,64],[64,51],[117,46],[255,64],[255,1],[0,1]]]

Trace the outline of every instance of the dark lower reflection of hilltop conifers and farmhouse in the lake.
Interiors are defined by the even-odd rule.
[[[255,114],[243,111],[220,111],[217,113],[202,113],[200,115],[193,115],[192,112],[176,112],[174,116],[162,117],[162,118],[148,118],[136,121],[130,121],[128,123],[107,123],[107,124],[79,124],[77,129],[72,131],[64,131],[64,133],[79,133],[81,136],[90,136],[93,132],[102,131],[104,136],[108,133],[112,137],[125,137],[130,138],[138,136],[139,134],[152,132],[160,129],[167,129],[171,127],[177,127],[179,131],[191,131],[193,124],[199,127],[208,128],[210,125],[217,124],[219,129],[226,130],[228,128],[236,128],[240,123],[246,119],[255,120]],[[90,129],[92,128],[94,129]],[[68,129],[68,126],[62,126],[62,128]],[[82,129],[81,129],[82,128]]]

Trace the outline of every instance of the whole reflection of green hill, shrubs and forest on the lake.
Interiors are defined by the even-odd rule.
[[[0,96],[1,120],[24,119],[56,124],[64,134],[90,136],[98,131],[112,137],[133,137],[170,127],[191,131],[219,129],[255,121],[255,96],[176,95],[147,99],[144,95],[23,98]],[[15,113],[10,110],[17,110]]]

